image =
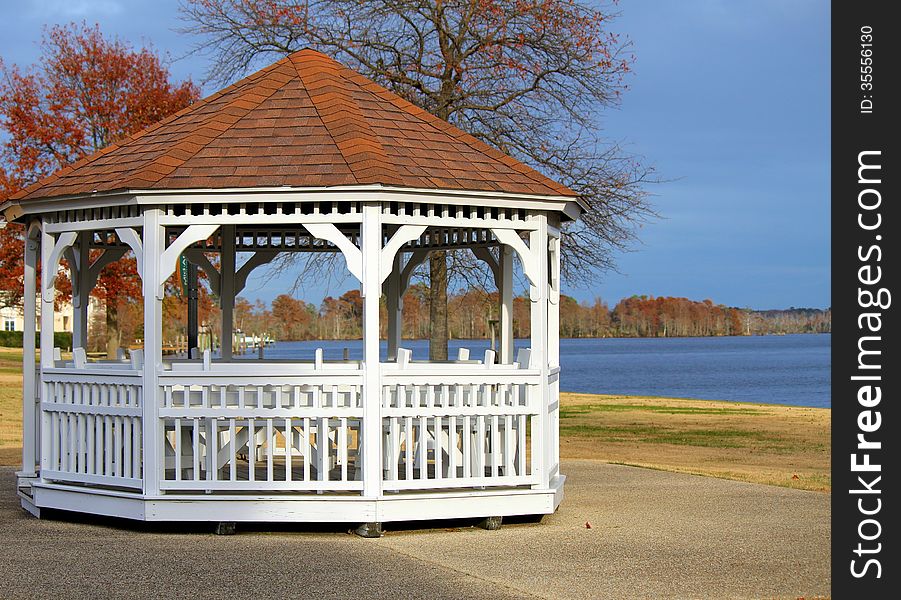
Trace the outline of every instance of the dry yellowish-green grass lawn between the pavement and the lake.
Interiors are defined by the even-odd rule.
[[[560,454],[829,491],[832,412],[771,404],[561,394]],[[18,466],[22,351],[0,348],[0,465]]]

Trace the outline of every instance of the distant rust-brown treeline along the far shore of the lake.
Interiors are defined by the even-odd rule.
[[[448,327],[453,338],[479,339],[491,335],[498,318],[497,293],[461,290],[448,298]],[[212,312],[218,312],[213,309]],[[177,312],[176,312],[177,314]],[[358,290],[329,296],[319,306],[283,294],[266,306],[238,299],[235,325],[247,333],[270,333],[280,340],[354,339],[362,335],[363,299]],[[215,326],[218,315],[209,314]],[[516,337],[528,337],[530,302],[520,296],[513,301]],[[177,327],[178,319],[170,322]],[[386,334],[387,310],[382,305],[382,335]],[[579,302],[560,298],[562,337],[682,337],[759,335],[780,333],[825,333],[831,331],[831,310],[790,308],[755,311],[715,304],[711,300],[632,296],[611,309],[600,298]],[[403,336],[428,338],[429,290],[413,285],[403,300]]]

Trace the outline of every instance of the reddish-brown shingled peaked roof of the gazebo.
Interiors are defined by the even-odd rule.
[[[313,50],[301,50],[10,198],[381,185],[575,197]]]

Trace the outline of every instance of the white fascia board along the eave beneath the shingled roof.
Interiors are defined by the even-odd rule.
[[[226,198],[223,198],[226,196]],[[59,196],[46,200],[9,200],[0,205],[7,220],[55,210],[79,210],[104,206],[198,204],[204,202],[425,202],[466,206],[508,207],[526,210],[554,210],[577,218],[584,205],[572,196],[542,196],[470,190],[435,190],[382,185],[355,185],[320,188],[289,186],[265,188],[209,188],[184,190],[127,190],[109,193]]]

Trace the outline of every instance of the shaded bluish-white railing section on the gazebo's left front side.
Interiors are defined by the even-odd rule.
[[[141,373],[117,368],[41,372],[41,477],[141,488]]]

